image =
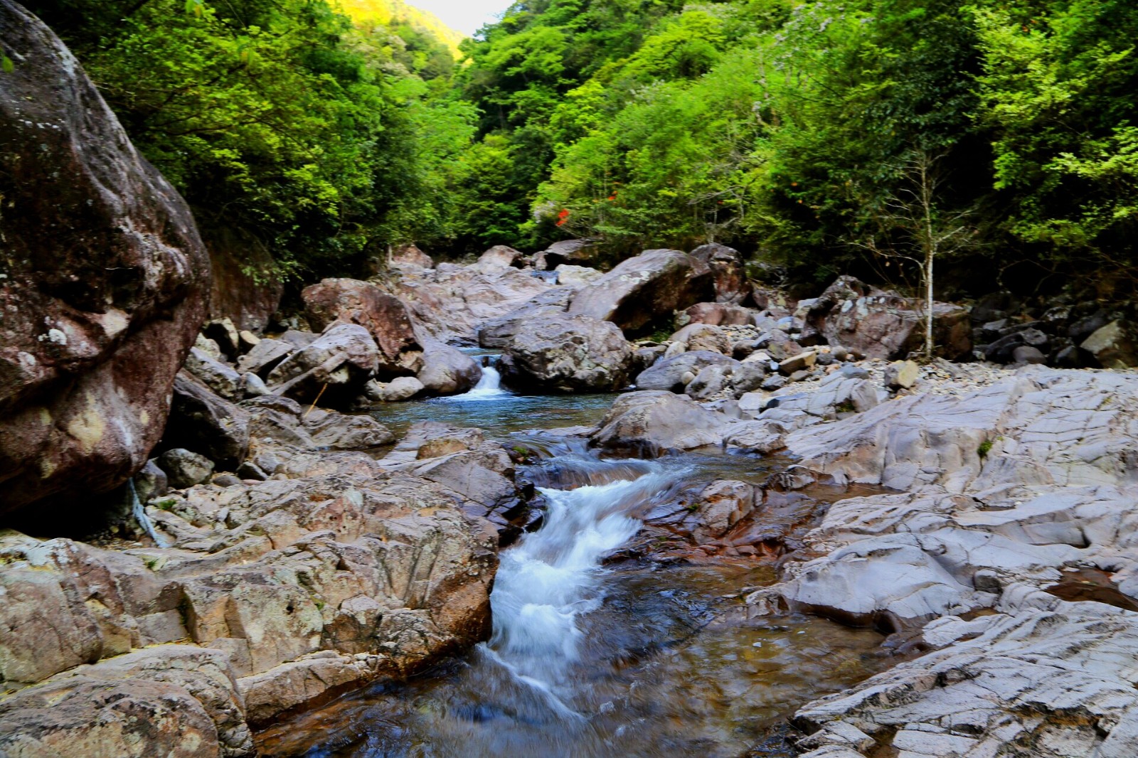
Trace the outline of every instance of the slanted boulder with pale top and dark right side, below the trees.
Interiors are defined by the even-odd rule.
[[[707,263],[679,250],[646,250],[622,261],[582,289],[569,313],[611,321],[640,335],[673,313],[712,299],[715,279]]]

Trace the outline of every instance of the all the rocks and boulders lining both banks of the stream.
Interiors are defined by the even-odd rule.
[[[553,432],[567,450],[762,469],[669,485],[613,560],[777,568],[739,612],[923,653],[801,708],[800,750],[1132,753],[1124,314],[938,303],[922,365],[922,303],[898,293],[842,277],[794,300],[719,245],[602,272],[561,242],[403,250],[267,329],[203,324],[189,208],[42,24],[2,0],[0,22],[22,61],[0,82],[0,512],[19,527],[0,532],[0,753],[251,755],[295,709],[485,640],[498,550],[543,519],[517,471],[541,445],[365,412],[470,390],[475,345],[518,392],[625,390]]]

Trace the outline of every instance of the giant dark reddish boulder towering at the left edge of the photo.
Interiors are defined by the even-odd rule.
[[[125,481],[162,436],[205,318],[189,208],[75,58],[0,2],[0,511]],[[63,502],[60,500],[60,502]]]

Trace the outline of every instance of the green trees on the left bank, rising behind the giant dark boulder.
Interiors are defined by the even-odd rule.
[[[42,0],[138,148],[204,228],[253,233],[282,272],[341,271],[448,236],[448,172],[473,108],[432,98],[454,61],[429,30],[323,0]]]

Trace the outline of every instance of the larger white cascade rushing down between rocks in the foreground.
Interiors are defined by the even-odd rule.
[[[576,617],[603,599],[601,561],[636,534],[634,514],[675,477],[657,469],[633,480],[541,489],[545,522],[502,552],[490,594],[489,645],[511,670],[549,684],[562,678],[577,658]]]

